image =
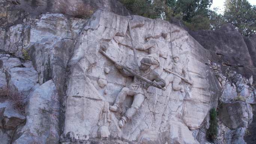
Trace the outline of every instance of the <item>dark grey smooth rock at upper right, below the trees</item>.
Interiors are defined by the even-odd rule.
[[[189,34],[211,52],[212,61],[232,67],[247,79],[253,75],[256,80],[253,37],[243,38],[230,24],[223,25],[220,30],[190,31]]]

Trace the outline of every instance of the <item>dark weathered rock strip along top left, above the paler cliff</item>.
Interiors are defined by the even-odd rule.
[[[118,15],[130,15],[122,3],[117,0],[1,0],[1,22],[0,25],[10,25],[14,22],[21,22],[26,15],[37,16],[41,13],[59,13],[61,3],[70,2],[71,4],[84,3],[92,9],[103,8]]]

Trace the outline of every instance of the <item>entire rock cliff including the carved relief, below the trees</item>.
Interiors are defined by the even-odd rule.
[[[214,143],[255,143],[255,36],[230,26],[188,32],[110,0],[85,0],[104,9],[72,18],[60,2],[0,0],[1,143],[210,144],[212,108]]]

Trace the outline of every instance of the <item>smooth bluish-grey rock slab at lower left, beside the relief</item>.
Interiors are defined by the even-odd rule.
[[[33,88],[26,108],[26,124],[13,144],[58,144],[60,99],[52,80]]]

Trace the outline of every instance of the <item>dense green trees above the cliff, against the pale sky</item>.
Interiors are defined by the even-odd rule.
[[[256,6],[247,0],[226,0],[224,14],[210,10],[213,0],[119,0],[136,15],[176,18],[191,30],[216,30],[225,23],[236,27],[241,34],[249,36],[256,30]]]

